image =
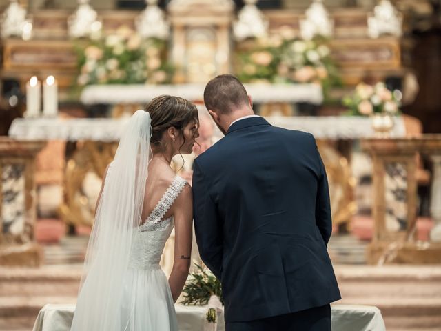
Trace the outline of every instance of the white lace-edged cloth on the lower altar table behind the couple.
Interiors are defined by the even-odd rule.
[[[282,128],[311,132],[318,139],[361,139],[374,132],[369,117],[265,117]],[[122,119],[14,119],[10,137],[23,140],[118,141],[127,118]],[[396,117],[391,137],[404,137],[404,121]]]

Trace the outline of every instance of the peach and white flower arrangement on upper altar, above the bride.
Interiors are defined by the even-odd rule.
[[[169,83],[172,67],[165,61],[166,43],[142,39],[130,28],[93,40],[79,49],[78,86],[90,84]]]

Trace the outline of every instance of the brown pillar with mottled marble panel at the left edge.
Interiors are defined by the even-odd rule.
[[[0,265],[38,266],[35,157],[43,141],[0,137]]]

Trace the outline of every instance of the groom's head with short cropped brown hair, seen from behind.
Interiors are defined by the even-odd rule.
[[[207,83],[204,103],[224,134],[232,121],[254,114],[251,97],[243,84],[232,74],[220,74]]]

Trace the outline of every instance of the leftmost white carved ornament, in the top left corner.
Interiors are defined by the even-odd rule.
[[[25,8],[21,8],[17,0],[11,0],[1,17],[1,37],[21,37],[28,40],[31,34],[32,21],[26,19]]]

